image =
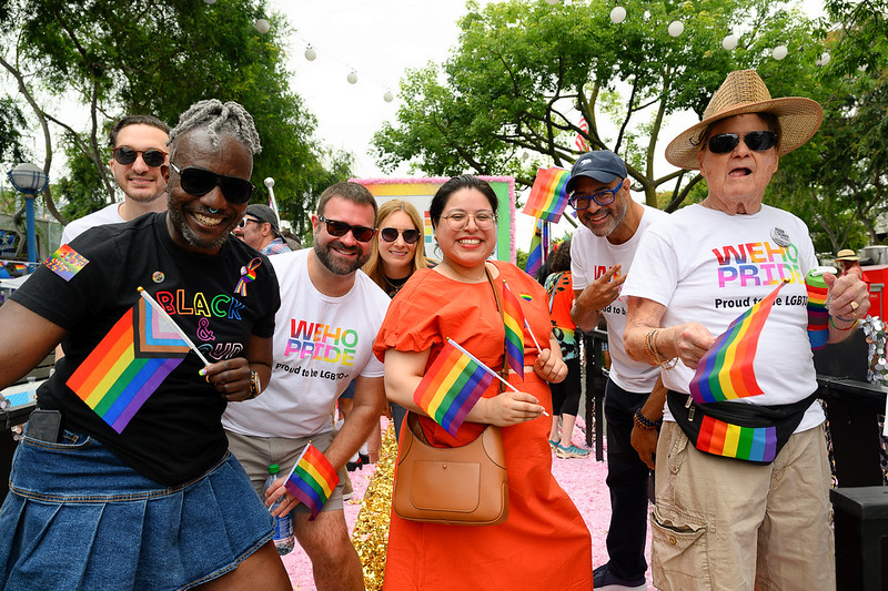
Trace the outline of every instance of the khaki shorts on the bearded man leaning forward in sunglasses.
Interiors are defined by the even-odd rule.
[[[286,439],[283,437],[253,437],[250,435],[240,435],[233,431],[225,430],[229,438],[229,450],[238,458],[243,469],[246,470],[246,476],[253,482],[253,488],[256,495],[265,500],[265,495],[262,488],[265,486],[265,479],[269,477],[269,466],[276,463],[281,467],[280,475],[282,477],[290,473],[293,465],[296,463],[302,450],[312,442],[314,447],[321,451],[326,450],[333,441],[336,431],[327,431],[311,437],[303,437],[300,439]],[[330,495],[330,499],[324,503],[322,511],[342,510],[342,487],[343,482],[347,480],[349,472],[345,469],[339,471],[340,481],[336,488]],[[299,513],[309,513],[309,508],[303,503],[299,503],[294,511]]]

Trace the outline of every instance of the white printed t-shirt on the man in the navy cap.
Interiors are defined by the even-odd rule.
[[[571,273],[574,291],[582,291],[595,279],[607,273],[614,265],[620,271],[614,275],[619,278],[629,272],[642,234],[654,222],[668,217],[666,212],[643,205],[644,213],[638,230],[623,244],[610,244],[598,237],[589,228],[581,225],[571,241]],[[626,329],[626,300],[620,295],[602,310],[607,320],[607,342],[610,349],[610,379],[627,391],[649,393],[657,381],[658,368],[636,361],[623,346],[623,332]]]

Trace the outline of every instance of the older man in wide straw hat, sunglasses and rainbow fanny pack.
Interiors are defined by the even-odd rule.
[[[669,390],[652,517],[658,589],[835,589],[807,335],[805,277],[817,259],[805,223],[761,203],[780,156],[821,120],[815,101],[771,99],[755,71],[737,71],[666,149],[670,163],[699,169],[709,193],[648,230],[623,285],[626,349],[663,367]],[[866,286],[859,273],[823,277],[838,342],[866,315]],[[773,306],[731,325],[769,295]],[[763,322],[753,329],[748,318]],[[723,353],[695,373],[713,347]]]

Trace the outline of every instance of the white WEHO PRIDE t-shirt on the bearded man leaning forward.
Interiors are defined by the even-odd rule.
[[[355,377],[382,377],[373,340],[391,302],[362,271],[347,294],[331,297],[309,278],[303,248],[269,258],[281,285],[269,387],[229,404],[225,429],[256,437],[300,438],[331,430],[336,399]]]

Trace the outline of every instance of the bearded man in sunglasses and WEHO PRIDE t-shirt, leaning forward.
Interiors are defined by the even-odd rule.
[[[385,401],[383,366],[373,356],[389,296],[362,271],[375,233],[376,202],[356,183],[337,183],[321,195],[312,216],[314,247],[269,258],[281,285],[274,363],[268,389],[255,400],[230,405],[222,424],[229,446],[256,492],[272,463],[287,475],[311,444],[340,473],[340,485],[313,521],[290,493],[283,513],[312,560],[317,589],[363,589],[364,577],[342,510],[343,467],[373,427]],[[333,429],[339,396],[356,378],[354,406]]]

